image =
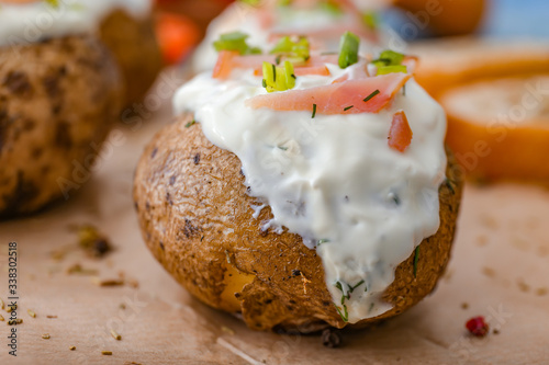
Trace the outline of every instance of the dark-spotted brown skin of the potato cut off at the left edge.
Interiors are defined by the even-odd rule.
[[[91,37],[0,48],[0,217],[63,196],[59,179],[75,182],[74,163],[92,163],[122,94],[114,60]]]

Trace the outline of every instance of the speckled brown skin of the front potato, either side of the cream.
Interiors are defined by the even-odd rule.
[[[213,146],[200,124],[187,128],[188,121],[180,117],[157,134],[135,174],[143,237],[157,260],[200,300],[242,311],[253,329],[311,332],[345,327],[315,250],[288,231],[261,232],[261,221],[271,212],[265,208],[253,218],[255,199],[246,194],[240,161]],[[448,183],[439,194],[440,228],[419,246],[416,277],[412,253],[384,294],[394,308],[352,327],[393,317],[434,289],[450,255],[461,194],[462,183],[450,161]],[[227,296],[226,287],[239,289]]]

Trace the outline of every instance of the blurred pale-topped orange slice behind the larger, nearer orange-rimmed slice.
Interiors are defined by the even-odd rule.
[[[415,79],[433,96],[480,78],[549,72],[549,44],[455,37],[418,42],[410,54],[419,56]]]

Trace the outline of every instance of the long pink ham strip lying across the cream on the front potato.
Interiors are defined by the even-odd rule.
[[[412,75],[397,72],[347,80],[305,90],[257,95],[245,103],[253,109],[269,107],[276,111],[312,111],[313,104],[316,104],[317,114],[378,113],[393,100],[395,92],[411,77]],[[379,93],[365,102],[376,90]]]

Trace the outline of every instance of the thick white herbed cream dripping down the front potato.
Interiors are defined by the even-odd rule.
[[[298,77],[294,89],[352,78],[365,65],[327,67],[329,77]],[[193,112],[208,139],[240,159],[250,195],[272,209],[264,228],[285,227],[316,249],[341,317],[354,323],[382,315],[391,309],[382,295],[396,266],[439,227],[442,109],[413,79],[379,113],[312,118],[311,112],[245,105],[265,93],[251,70],[235,70],[226,81],[205,72],[176,93],[175,112]],[[388,146],[400,110],[414,134],[404,153]]]

